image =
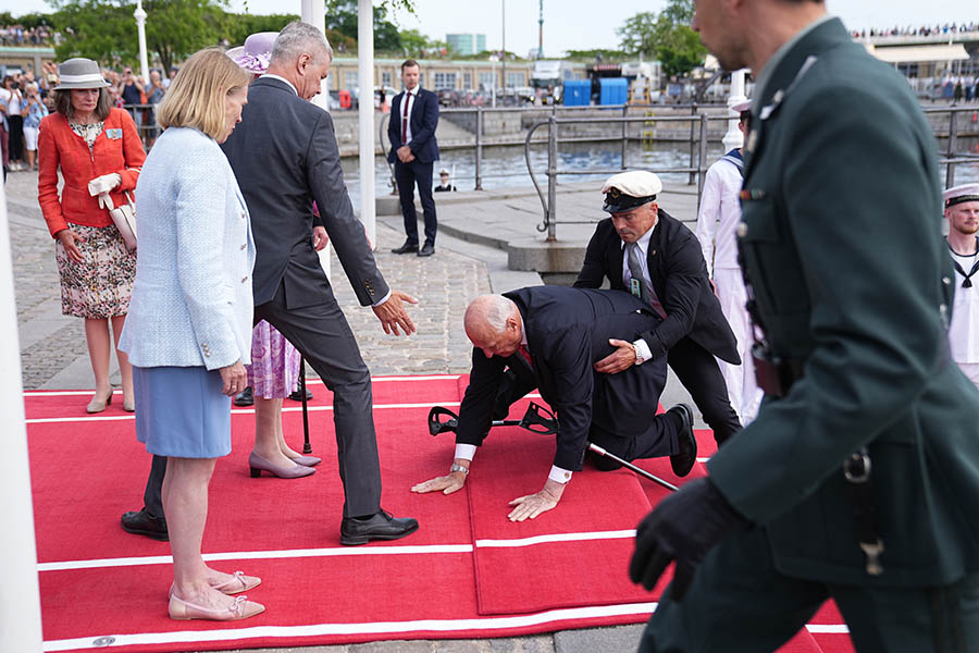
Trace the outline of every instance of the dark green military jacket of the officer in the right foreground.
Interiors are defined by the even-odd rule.
[[[710,460],[778,569],[937,586],[979,569],[979,392],[950,359],[952,269],[935,143],[907,83],[839,20],[805,35],[756,98],[743,267],[782,398]],[[858,547],[842,463],[869,448],[883,574]]]

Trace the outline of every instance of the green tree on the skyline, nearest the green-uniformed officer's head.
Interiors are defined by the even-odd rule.
[[[686,75],[704,61],[707,49],[690,28],[693,0],[669,0],[659,14],[641,12],[627,20],[616,33],[622,50],[659,60],[668,78]]]

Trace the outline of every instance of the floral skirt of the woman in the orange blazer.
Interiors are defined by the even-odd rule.
[[[54,255],[61,275],[61,312],[76,318],[106,319],[124,316],[136,279],[136,252],[129,252],[119,230],[69,223],[69,229],[85,238],[75,242],[83,262],[69,259],[61,241]]]

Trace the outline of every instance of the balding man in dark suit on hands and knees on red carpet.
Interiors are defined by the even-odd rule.
[[[625,460],[670,456],[678,476],[690,473],[697,456],[690,407],[656,415],[666,357],[618,374],[593,367],[617,338],[636,337],[659,323],[641,299],[619,291],[536,286],[478,297],[463,320],[473,344],[472,372],[459,408],[455,459],[448,476],[412,492],[451,494],[462,488],[490,422],[504,419],[534,387],[557,415],[557,452],[544,488],[510,502],[511,521],[557,505],[572,472],[582,469],[590,441]]]

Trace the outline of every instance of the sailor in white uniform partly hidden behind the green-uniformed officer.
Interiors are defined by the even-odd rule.
[[[747,134],[751,122],[751,100],[734,104],[731,109],[741,114],[738,128]],[[741,222],[741,200],[739,194],[744,182],[744,159],[740,148],[732,149],[718,159],[707,170],[704,178],[704,194],[697,214],[697,239],[707,262],[707,274],[714,282],[721,310],[738,338],[741,365],[731,365],[718,359],[731,406],[747,426],[758,414],[763,392],[755,383],[755,368],[752,365],[751,348],[752,321],[745,304],[747,293],[738,264],[738,243],[734,229]]]

